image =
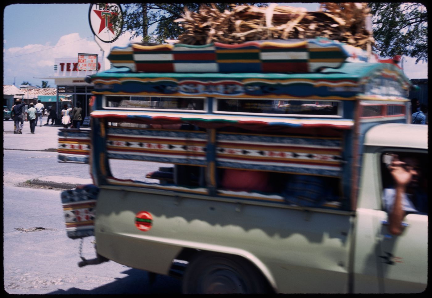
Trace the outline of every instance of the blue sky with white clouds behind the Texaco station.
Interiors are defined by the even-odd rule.
[[[317,10],[318,3],[281,3]],[[97,53],[89,25],[89,4],[12,4],[3,10],[3,84],[28,81],[41,85],[41,78],[54,75],[54,58],[75,57],[78,53]],[[114,46],[129,44],[130,34],[104,44],[105,57]],[[132,40],[138,42],[139,40]],[[427,78],[427,64],[403,63],[408,78]],[[106,60],[108,61],[108,60]],[[108,67],[109,64],[107,64]],[[48,80],[54,86],[54,80]]]

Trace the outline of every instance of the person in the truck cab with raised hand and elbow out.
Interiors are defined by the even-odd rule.
[[[407,213],[427,213],[426,178],[420,176],[419,159],[412,156],[399,157],[392,154],[388,166],[394,182],[392,188],[385,188],[384,210],[388,213],[389,232],[402,233],[402,220]],[[420,187],[419,182],[422,182]]]

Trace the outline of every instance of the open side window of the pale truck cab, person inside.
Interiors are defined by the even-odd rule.
[[[382,203],[391,212],[396,189],[403,187],[402,210],[406,213],[428,213],[427,155],[410,152],[381,154]]]

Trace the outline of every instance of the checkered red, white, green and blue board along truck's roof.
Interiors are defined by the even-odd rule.
[[[113,66],[137,72],[316,72],[339,68],[347,57],[343,44],[323,38],[234,45],[132,44],[114,47],[108,55]]]

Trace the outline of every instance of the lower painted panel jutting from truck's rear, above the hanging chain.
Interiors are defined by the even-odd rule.
[[[92,184],[62,191],[61,203],[69,238],[93,235],[98,193],[99,188]]]

